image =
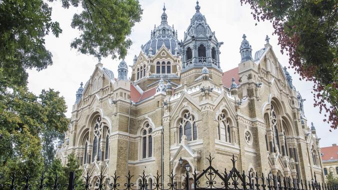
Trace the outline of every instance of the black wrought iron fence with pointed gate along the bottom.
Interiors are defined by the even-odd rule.
[[[3,176],[0,176],[0,189],[98,189],[98,190],[338,190],[338,186],[328,185],[325,183],[317,182],[315,173],[314,178],[308,181],[303,181],[302,179],[289,179],[281,178],[275,175],[269,174],[264,176],[263,173],[258,175],[256,172],[253,176],[249,172],[245,174],[244,171],[239,172],[235,167],[236,160],[232,155],[232,168],[227,171],[224,169],[223,172],[219,172],[212,166],[211,156],[209,155],[206,158],[209,162],[209,166],[206,169],[203,169],[201,173],[196,173],[196,170],[192,172],[192,185],[190,185],[191,178],[189,172],[186,172],[184,175],[184,181],[175,181],[175,174],[171,171],[168,175],[169,181],[167,183],[161,182],[161,175],[156,173],[154,179],[151,183],[147,183],[146,178],[148,175],[143,173],[138,175],[141,182],[133,183],[135,178],[133,175],[128,172],[127,176],[117,176],[116,172],[113,176],[104,176],[102,173],[97,176],[95,184],[91,184],[89,181],[92,176],[89,176],[88,173],[86,176],[83,176],[83,181],[81,184],[76,184],[75,179],[81,176],[75,176],[74,172],[70,172],[68,176],[68,183],[61,185],[59,182],[59,177],[57,173],[52,177],[46,184],[46,176],[42,173],[37,181],[32,181],[29,174],[22,178],[18,178],[15,173],[13,173],[9,179],[4,180]],[[124,183],[119,183],[118,180],[122,178],[125,179]],[[21,180],[20,180],[21,179]],[[106,179],[106,180],[104,180]],[[190,179],[190,180],[189,180]],[[105,182],[104,182],[105,181]],[[191,189],[190,189],[191,188]]]

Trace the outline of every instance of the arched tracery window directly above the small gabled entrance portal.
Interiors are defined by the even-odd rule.
[[[188,141],[197,139],[197,126],[195,124],[195,118],[190,114],[189,111],[184,113],[183,118],[179,122],[179,142],[181,141],[183,134],[186,136],[186,140]]]

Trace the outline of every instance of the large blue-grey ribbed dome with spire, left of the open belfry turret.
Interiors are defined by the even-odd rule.
[[[150,40],[147,41],[141,48],[142,51],[148,55],[149,49],[151,47],[152,55],[157,52],[157,50],[164,43],[165,47],[170,49],[171,54],[175,54],[175,49],[177,52],[180,52],[180,47],[178,46],[177,40],[177,31],[174,27],[169,26],[167,22],[167,15],[165,13],[165,6],[163,7],[163,13],[161,15],[161,24],[159,26],[154,26],[151,30]]]

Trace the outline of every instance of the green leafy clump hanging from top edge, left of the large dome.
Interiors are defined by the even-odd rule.
[[[74,14],[71,27],[82,33],[71,42],[71,47],[97,57],[124,57],[131,45],[131,27],[140,21],[142,9],[138,0],[68,0],[82,5],[82,12]],[[65,0],[64,7],[69,6]]]

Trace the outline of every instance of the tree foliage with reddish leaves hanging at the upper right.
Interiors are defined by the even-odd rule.
[[[338,125],[338,0],[240,0],[257,21],[269,20],[281,52],[301,78],[313,81],[314,106],[325,122]]]

